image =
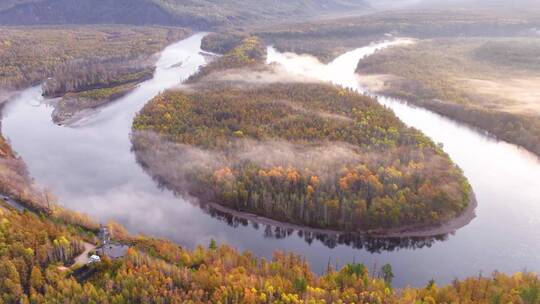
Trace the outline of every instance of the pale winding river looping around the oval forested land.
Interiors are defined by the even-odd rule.
[[[407,124],[422,130],[464,170],[478,200],[477,217],[455,234],[415,239],[349,239],[236,218],[175,196],[154,181],[131,152],[134,115],[159,92],[178,85],[205,63],[204,34],[166,48],[155,76],[129,95],[96,110],[71,127],[51,121],[52,107],[39,87],[29,88],[3,112],[3,132],[26,161],[40,186],[60,202],[102,222],[115,220],[133,233],[166,237],[187,247],[226,242],[270,257],[275,250],[305,256],[314,271],[329,261],[353,260],[370,269],[391,263],[396,286],[422,286],[430,279],[540,270],[540,161],[516,146],[498,142],[466,126],[397,100],[379,101]],[[357,49],[328,65],[310,56],[281,54],[269,48],[269,62],[291,73],[332,81],[365,92],[354,74],[356,64],[376,50],[398,42]],[[181,65],[177,63],[182,62]]]

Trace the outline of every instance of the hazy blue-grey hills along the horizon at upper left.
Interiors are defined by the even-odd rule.
[[[2,0],[1,25],[159,24],[207,29],[364,10],[365,0]]]

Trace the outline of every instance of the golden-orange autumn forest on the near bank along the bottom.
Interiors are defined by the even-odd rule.
[[[272,259],[210,242],[185,250],[168,241],[114,234],[126,256],[64,267],[92,233],[20,213],[0,202],[1,303],[540,303],[532,273],[494,273],[439,287],[392,288],[392,267],[361,263],[323,275],[301,257]]]

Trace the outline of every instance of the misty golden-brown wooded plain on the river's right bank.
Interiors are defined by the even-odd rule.
[[[362,60],[358,72],[397,76],[379,93],[540,154],[539,111],[532,97],[537,93],[531,91],[540,76],[539,52],[540,42],[532,38],[423,40]]]

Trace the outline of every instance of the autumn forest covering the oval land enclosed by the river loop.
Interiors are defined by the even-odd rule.
[[[159,151],[141,132],[154,131],[192,164],[165,180],[235,210],[345,231],[439,224],[464,211],[471,190],[460,169],[369,97],[321,83],[205,83],[209,71],[260,61],[255,41],[202,69],[195,90],[161,94],[135,119],[139,155]]]

